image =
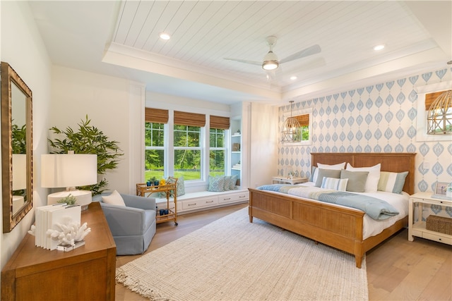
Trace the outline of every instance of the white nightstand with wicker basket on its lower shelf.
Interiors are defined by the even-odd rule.
[[[408,240],[413,241],[413,236],[417,236],[420,238],[426,238],[428,240],[435,240],[437,242],[443,242],[448,245],[452,245],[452,235],[447,235],[436,231],[429,231],[425,228],[425,221],[422,221],[422,208],[424,207],[424,204],[452,207],[451,200],[434,199],[432,197],[432,194],[433,192],[418,192],[410,196],[408,211]],[[419,221],[413,223],[415,203],[419,204],[419,207],[417,208]]]

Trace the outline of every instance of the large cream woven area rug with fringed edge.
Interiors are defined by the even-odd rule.
[[[179,227],[183,227],[179,223]],[[120,266],[150,300],[368,300],[366,262],[240,209]]]

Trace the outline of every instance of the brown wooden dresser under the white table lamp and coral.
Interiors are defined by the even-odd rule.
[[[114,300],[116,245],[99,202],[82,211],[91,232],[70,252],[27,234],[1,271],[1,300]]]

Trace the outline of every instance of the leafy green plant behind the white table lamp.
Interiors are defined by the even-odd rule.
[[[66,130],[60,130],[57,127],[52,127],[50,130],[58,135],[64,135],[64,139],[48,139],[50,147],[52,147],[52,154],[66,154],[73,151],[75,154],[97,154],[97,173],[104,175],[107,171],[117,168],[119,157],[124,154],[119,148],[119,142],[109,140],[102,130],[90,125],[91,120],[86,115],[85,120],[78,123],[78,131],[74,131],[71,127]],[[100,181],[95,185],[82,186],[82,190],[91,190],[93,195],[99,195],[105,188],[108,182]]]

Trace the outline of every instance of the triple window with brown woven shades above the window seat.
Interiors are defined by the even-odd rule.
[[[172,118],[169,118],[172,116]],[[145,109],[145,179],[184,176],[205,184],[207,176],[225,175],[230,118]]]

